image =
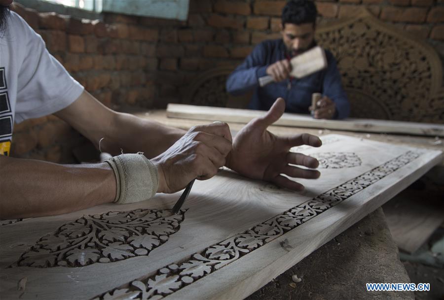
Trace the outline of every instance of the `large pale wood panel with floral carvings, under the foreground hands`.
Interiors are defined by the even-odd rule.
[[[298,180],[302,193],[223,170],[196,181],[176,216],[180,193],[1,226],[0,295],[242,299],[442,160],[440,151],[348,136],[323,141],[293,149],[321,160],[320,179]]]

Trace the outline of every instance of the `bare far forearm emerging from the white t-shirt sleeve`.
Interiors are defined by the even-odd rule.
[[[96,147],[104,138],[100,144],[101,150],[113,155],[120,154],[122,149],[124,153],[142,151],[148,158],[153,158],[185,134],[180,129],[115,112],[86,91],[55,115],[86,136]]]

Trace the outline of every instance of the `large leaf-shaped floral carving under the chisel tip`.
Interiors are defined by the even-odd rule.
[[[17,266],[80,267],[148,255],[179,230],[184,214],[138,209],[83,216],[41,237]]]

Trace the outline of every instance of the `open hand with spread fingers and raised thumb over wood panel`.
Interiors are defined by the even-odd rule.
[[[300,145],[321,146],[319,137],[308,134],[277,136],[267,131],[284,113],[285,101],[278,98],[263,116],[253,119],[237,133],[233,148],[226,157],[226,166],[239,174],[253,179],[270,181],[278,186],[295,191],[304,186],[281,175],[315,179],[320,176],[317,170],[296,167],[295,165],[316,168],[317,159],[301,153],[292,153],[290,148]]]

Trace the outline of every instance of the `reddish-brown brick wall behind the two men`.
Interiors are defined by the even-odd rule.
[[[119,14],[77,20],[20,5],[15,10],[88,92],[120,109],[180,102],[202,71],[236,65],[259,41],[280,37],[285,3],[190,0],[183,22]],[[316,5],[320,23],[353,16],[365,6],[380,20],[426,40],[444,58],[444,0],[316,0]],[[50,116],[15,126],[11,156],[71,162],[72,148],[84,143]]]

